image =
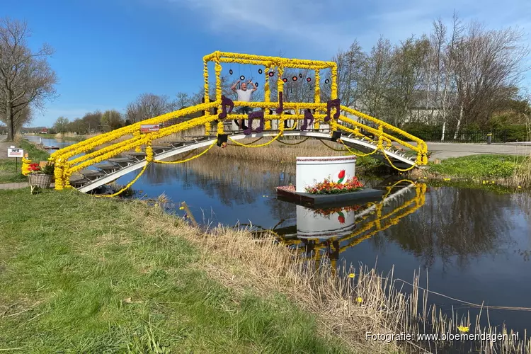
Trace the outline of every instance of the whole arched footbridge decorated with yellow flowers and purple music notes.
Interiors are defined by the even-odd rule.
[[[140,170],[125,188],[113,194],[118,195],[135,183],[149,164],[181,164],[206,154],[212,147],[226,147],[229,140],[243,147],[264,147],[275,141],[282,142],[285,137],[313,138],[320,139],[324,149],[343,147],[357,156],[370,155],[381,159],[399,171],[428,163],[428,148],[423,140],[341,105],[335,62],[227,52],[214,52],[205,56],[203,62],[204,103],[136,122],[58,150],[50,156],[50,160],[55,162],[55,189],[77,188],[87,193]],[[212,62],[215,85],[209,81],[209,64]],[[232,101],[222,94],[222,66],[232,63],[261,67],[259,72],[265,80],[263,101]],[[307,83],[311,83],[314,89],[313,102],[284,101],[288,81],[284,77],[286,69],[303,69],[313,73],[306,77]],[[325,79],[323,83],[321,75],[324,72],[329,73],[330,79]],[[295,81],[295,76],[292,79]],[[210,101],[211,86],[215,91],[214,101]],[[321,102],[321,88],[324,86],[329,87],[330,100]],[[276,93],[274,101],[272,93]],[[255,111],[249,115],[235,113],[243,106]],[[233,123],[238,119],[247,120],[249,128],[239,130]],[[178,141],[171,140],[176,134],[193,132],[198,127],[202,127],[201,135],[190,134]],[[256,140],[245,144],[239,142],[249,138],[265,138],[268,141],[261,144],[256,144]],[[189,156],[196,150],[197,154]],[[172,158],[178,160],[169,161]]]

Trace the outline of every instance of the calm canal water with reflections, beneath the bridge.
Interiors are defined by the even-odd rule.
[[[118,183],[134,177],[123,176]],[[475,304],[531,307],[530,195],[409,182],[388,188],[393,181],[361,179],[384,189],[387,198],[315,212],[276,198],[275,187],[295,184],[292,164],[207,156],[149,166],[133,188],[142,198],[164,193],[181,216],[178,203],[185,201],[198,222],[275,228],[286,244],[307,246],[338,265],[376,264],[383,273],[394,266],[394,277],[408,282],[420,270],[421,286],[427,275],[433,292]],[[428,299],[448,312],[477,313],[452,299]],[[496,326],[505,322],[521,336],[531,329],[531,312],[491,309],[489,319]]]

